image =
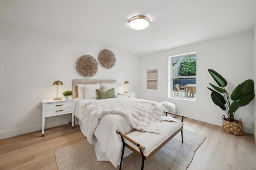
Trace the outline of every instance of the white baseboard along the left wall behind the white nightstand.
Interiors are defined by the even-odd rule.
[[[65,125],[68,123],[69,123],[68,119],[61,119],[58,121],[46,122],[45,128],[56,127],[56,126]],[[28,126],[28,127],[16,128],[16,129],[0,132],[0,140],[4,139],[4,138],[10,138],[13,136],[18,136],[20,134],[35,132],[38,130],[42,130],[42,123],[38,124],[38,125],[32,125],[32,126]]]

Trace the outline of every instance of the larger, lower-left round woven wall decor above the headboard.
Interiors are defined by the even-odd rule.
[[[77,72],[84,77],[92,77],[98,71],[98,63],[94,57],[83,55],[76,61]]]

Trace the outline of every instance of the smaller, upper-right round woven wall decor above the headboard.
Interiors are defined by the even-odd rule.
[[[116,57],[114,53],[108,49],[103,49],[100,51],[98,59],[100,65],[106,69],[111,69],[116,63]]]

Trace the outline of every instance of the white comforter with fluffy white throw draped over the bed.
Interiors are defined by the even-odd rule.
[[[130,97],[84,100],[80,104],[80,120],[88,142],[94,144],[96,154],[102,152],[102,155],[97,154],[97,159],[109,160],[116,167],[120,163],[122,148],[116,130],[124,134],[133,128],[161,133],[160,117],[163,109],[157,102]]]

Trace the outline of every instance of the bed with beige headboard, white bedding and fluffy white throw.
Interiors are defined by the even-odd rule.
[[[76,125],[80,125],[80,129],[87,137],[88,142],[94,145],[98,161],[110,161],[115,167],[120,164],[122,140],[116,134],[116,130],[121,130],[124,134],[134,129],[161,133],[161,129],[158,127],[159,115],[161,117],[164,114],[165,108],[160,103],[119,95],[116,95],[116,98],[103,100],[78,98],[78,93],[81,95],[81,85],[87,87],[97,84],[98,87],[98,83],[100,83],[99,89],[106,90],[105,86],[110,85],[112,87],[111,85],[116,84],[116,80],[74,79],[72,83]],[[102,87],[102,85],[104,86]],[[118,105],[122,107],[118,107]],[[105,107],[109,107],[109,110],[102,109]],[[144,118],[136,115],[138,111],[140,111],[140,115],[149,115],[146,125]],[[135,114],[136,119],[130,117],[133,114]],[[124,157],[131,153],[132,151],[126,148]]]

